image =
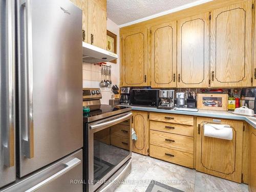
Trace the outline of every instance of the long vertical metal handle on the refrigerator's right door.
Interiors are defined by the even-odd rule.
[[[22,9],[24,11],[24,30],[21,32],[23,34],[24,40],[24,59],[25,61],[25,84],[26,84],[26,120],[25,129],[27,129],[26,136],[23,138],[24,142],[24,154],[26,158],[34,157],[34,124],[33,124],[33,59],[32,59],[32,11],[31,2],[28,3],[27,0],[21,0]]]

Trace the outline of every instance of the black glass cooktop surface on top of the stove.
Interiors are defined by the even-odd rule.
[[[83,114],[83,122],[92,122],[113,115],[121,114],[127,111],[132,111],[128,106],[114,106],[101,104],[99,110],[91,111],[90,113]]]

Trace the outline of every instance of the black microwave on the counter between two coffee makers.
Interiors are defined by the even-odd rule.
[[[130,92],[131,105],[158,107],[160,89],[133,89]]]

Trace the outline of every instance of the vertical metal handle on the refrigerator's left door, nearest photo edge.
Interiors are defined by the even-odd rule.
[[[4,143],[4,164],[6,167],[14,166],[14,1],[6,1],[8,17],[8,126],[6,130],[7,139]]]

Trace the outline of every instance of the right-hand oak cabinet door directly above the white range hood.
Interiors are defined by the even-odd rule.
[[[88,0],[88,43],[106,49],[106,0]]]

